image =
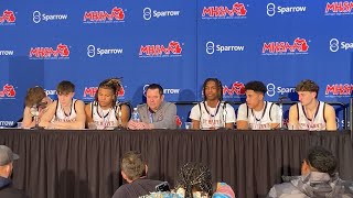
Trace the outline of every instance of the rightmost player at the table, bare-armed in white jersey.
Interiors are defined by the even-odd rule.
[[[300,81],[296,91],[300,102],[289,109],[289,130],[336,130],[335,111],[332,106],[318,100],[319,86],[314,81]]]

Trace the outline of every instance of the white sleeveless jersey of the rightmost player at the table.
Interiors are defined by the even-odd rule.
[[[322,131],[327,129],[327,122],[323,116],[323,109],[325,103],[319,101],[319,108],[312,118],[308,118],[304,108],[300,102],[297,103],[298,108],[298,118],[299,118],[299,130],[309,130],[309,131]]]

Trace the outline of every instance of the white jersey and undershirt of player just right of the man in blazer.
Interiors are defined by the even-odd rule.
[[[206,101],[194,106],[189,118],[200,121],[200,129],[205,130],[224,128],[225,123],[234,123],[236,120],[234,108],[231,105],[220,102],[216,108],[211,108]]]

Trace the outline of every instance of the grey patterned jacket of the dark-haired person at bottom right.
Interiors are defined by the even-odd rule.
[[[353,184],[335,174],[311,172],[308,175],[291,177],[289,183],[275,185],[268,197],[332,197],[353,198]]]

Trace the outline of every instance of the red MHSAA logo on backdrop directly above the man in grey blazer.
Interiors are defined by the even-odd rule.
[[[179,42],[171,41],[165,45],[141,45],[140,57],[175,57],[181,56],[183,48]]]

